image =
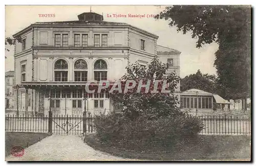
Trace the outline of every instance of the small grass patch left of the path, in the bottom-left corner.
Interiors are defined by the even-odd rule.
[[[32,132],[6,132],[5,133],[5,156],[11,154],[11,149],[14,146],[27,148],[38,141],[47,137],[47,133],[32,133]]]

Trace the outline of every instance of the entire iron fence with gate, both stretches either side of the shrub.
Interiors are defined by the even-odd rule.
[[[250,135],[251,120],[244,116],[199,116],[204,125],[200,134]],[[5,118],[6,132],[46,132],[51,134],[84,134],[95,132],[94,116],[83,113],[83,116],[61,115],[47,116],[20,115]]]

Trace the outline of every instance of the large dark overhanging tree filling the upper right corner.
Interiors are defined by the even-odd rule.
[[[214,66],[225,98],[250,97],[251,8],[250,6],[172,6],[156,19],[170,20],[177,32],[191,32],[196,47],[216,42]]]

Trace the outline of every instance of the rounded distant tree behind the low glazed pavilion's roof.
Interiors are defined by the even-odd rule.
[[[217,93],[218,86],[216,81],[215,75],[202,74],[198,70],[196,74],[190,74],[180,80],[180,89],[181,91],[186,91],[195,88],[210,93]]]

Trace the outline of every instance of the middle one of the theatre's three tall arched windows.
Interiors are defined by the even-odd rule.
[[[77,60],[74,65],[75,81],[87,81],[87,63],[84,60]]]

